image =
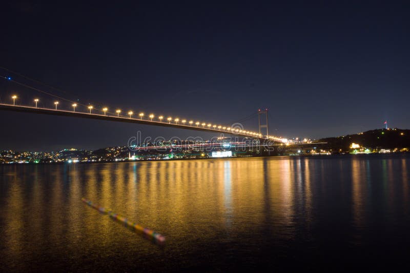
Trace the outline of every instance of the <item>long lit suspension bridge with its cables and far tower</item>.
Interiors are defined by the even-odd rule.
[[[238,124],[233,125],[222,125],[219,123],[210,123],[197,120],[188,120],[174,118],[172,116],[165,115],[155,115],[154,113],[145,114],[144,112],[134,112],[132,110],[122,111],[121,109],[111,110],[108,107],[96,108],[92,105],[79,104],[74,101],[67,100],[63,97],[56,96],[52,93],[46,92],[44,90],[38,89],[36,87],[27,85],[22,82],[13,80],[9,76],[3,76],[6,81],[15,83],[17,85],[33,89],[45,93],[47,95],[56,97],[59,100],[55,100],[53,104],[49,107],[40,107],[39,102],[40,97],[35,96],[32,98],[31,102],[26,99],[25,104],[22,104],[19,98],[19,94],[14,93],[8,97],[9,103],[0,103],[0,110],[4,111],[15,111],[15,112],[26,112],[26,113],[36,113],[36,114],[48,114],[48,115],[58,115],[58,116],[71,116],[76,118],[84,119],[94,119],[94,120],[106,120],[113,122],[125,122],[125,123],[135,123],[144,124],[152,126],[161,127],[171,127],[178,129],[188,129],[195,131],[213,132],[218,134],[231,134],[242,136],[245,138],[256,138],[260,141],[270,141],[278,142],[282,144],[288,143],[287,139],[279,138],[277,136],[269,135],[268,131],[268,109],[258,110],[259,118],[259,131],[248,130],[238,126]],[[266,115],[266,123],[261,124],[260,116],[261,114]],[[265,128],[266,134],[262,134],[261,128]]]

